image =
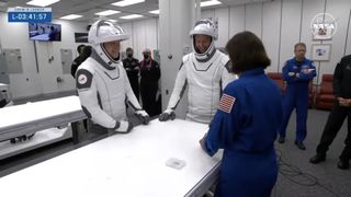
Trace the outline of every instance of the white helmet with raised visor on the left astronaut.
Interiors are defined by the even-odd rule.
[[[115,63],[120,61],[114,59],[105,50],[103,44],[114,40],[125,40],[128,39],[129,35],[116,23],[107,20],[99,20],[94,22],[88,34],[88,40],[91,43],[92,47],[101,59],[111,67],[116,67]]]

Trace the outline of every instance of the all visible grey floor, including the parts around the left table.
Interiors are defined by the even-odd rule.
[[[70,94],[72,93],[67,93],[67,95]],[[55,97],[55,95],[52,95],[52,97]],[[25,102],[25,100],[18,101],[18,103]],[[133,117],[132,112],[128,112],[128,114]],[[347,123],[344,123],[330,147],[327,161],[317,165],[308,162],[309,158],[315,154],[315,149],[328,115],[329,112],[327,111],[309,111],[308,135],[305,141],[307,150],[305,151],[297,149],[294,144],[295,115],[292,115],[287,128],[286,142],[284,144],[276,143],[280,155],[280,173],[272,197],[351,196],[351,170],[342,171],[337,167],[338,157],[343,148],[343,140],[347,134]],[[135,117],[132,120],[136,125],[139,124]],[[89,136],[82,124],[80,124],[78,144],[73,144],[71,140],[66,140],[19,157],[2,160],[0,161],[0,177],[104,137],[106,136]]]

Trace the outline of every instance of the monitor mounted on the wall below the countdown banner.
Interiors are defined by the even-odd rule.
[[[54,23],[29,23],[31,40],[61,40],[61,25]]]

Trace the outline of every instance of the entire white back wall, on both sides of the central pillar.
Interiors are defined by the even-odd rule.
[[[202,11],[201,16],[218,19],[217,47],[225,47],[226,42],[236,33],[242,31],[256,33],[262,39],[272,60],[267,71],[281,71],[286,59],[294,56],[293,47],[297,42],[306,43],[307,58],[310,58],[312,44],[331,44],[330,60],[316,62],[318,78],[315,79],[315,83],[319,83],[322,73],[332,73],[340,58],[351,54],[350,8],[350,0],[275,0],[210,9]],[[310,20],[317,13],[325,11],[337,19],[337,33],[331,40],[313,40],[309,30]],[[37,73],[34,42],[29,39],[27,25],[25,23],[9,24],[7,14],[0,13],[2,48],[20,48],[22,53],[23,73],[10,74],[13,97],[75,89],[75,81],[70,74],[63,74],[59,53],[61,48],[72,49],[76,57],[78,44],[73,40],[73,33],[86,32],[87,24],[67,21],[54,21],[54,23],[63,25],[63,40],[36,43],[39,68]],[[159,49],[158,23],[159,20],[152,18],[121,24],[131,34],[131,39],[122,43],[121,50],[133,47],[135,57],[140,60],[145,48]],[[52,63],[48,63],[49,56],[55,58]],[[64,82],[58,84],[57,77],[64,78]]]

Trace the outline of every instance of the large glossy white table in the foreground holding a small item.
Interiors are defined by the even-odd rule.
[[[176,119],[135,127],[0,178],[1,196],[200,196],[216,179],[220,155],[199,140],[208,126]],[[183,169],[166,165],[170,158]]]

